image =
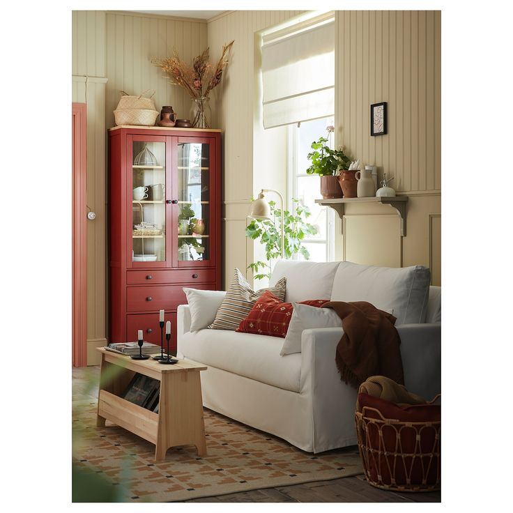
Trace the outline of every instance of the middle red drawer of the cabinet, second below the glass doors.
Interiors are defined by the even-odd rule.
[[[213,290],[215,284],[202,283],[195,289]],[[128,312],[148,310],[176,310],[178,305],[186,305],[187,298],[183,285],[128,286],[126,288],[126,305]]]

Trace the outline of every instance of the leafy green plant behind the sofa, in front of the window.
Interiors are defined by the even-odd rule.
[[[298,199],[293,199],[293,213],[289,210],[283,211],[284,226],[284,258],[290,259],[294,254],[301,254],[308,260],[310,254],[302,241],[307,235],[315,235],[316,227],[307,222],[307,218],[311,215],[307,206],[300,203]],[[250,263],[247,269],[252,269],[254,278],[261,280],[262,278],[270,278],[271,261],[279,258],[282,254],[282,210],[276,208],[275,201],[269,201],[270,215],[275,217],[276,223],[268,219],[254,219],[246,227],[246,237],[252,240],[259,240],[266,249],[266,261],[257,261]]]

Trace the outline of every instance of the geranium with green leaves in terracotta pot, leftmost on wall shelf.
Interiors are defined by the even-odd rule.
[[[335,127],[326,127],[328,137]],[[323,199],[342,198],[342,189],[339,185],[339,177],[342,169],[349,169],[351,158],[349,158],[342,147],[332,150],[328,146],[328,138],[319,137],[319,141],[312,142],[312,152],[308,153],[308,160],[312,165],[307,169],[307,174],[318,174],[321,177],[321,195]]]

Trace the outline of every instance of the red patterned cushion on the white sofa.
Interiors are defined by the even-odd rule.
[[[327,301],[329,300],[311,299],[298,301],[298,303],[321,307]],[[289,329],[292,310],[292,303],[282,303],[272,292],[266,291],[254,304],[247,317],[240,322],[236,331],[285,338],[286,331]]]

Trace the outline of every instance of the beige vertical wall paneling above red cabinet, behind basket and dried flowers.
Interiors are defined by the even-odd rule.
[[[151,58],[172,56],[176,49],[181,59],[192,62],[208,45],[206,22],[122,11],[109,11],[106,18],[107,127],[114,126],[113,112],[120,91],[140,94],[155,89],[153,100],[159,112],[162,105],[172,105],[178,118],[189,118],[190,96],[181,87],[171,85],[164,72],[153,66]]]

